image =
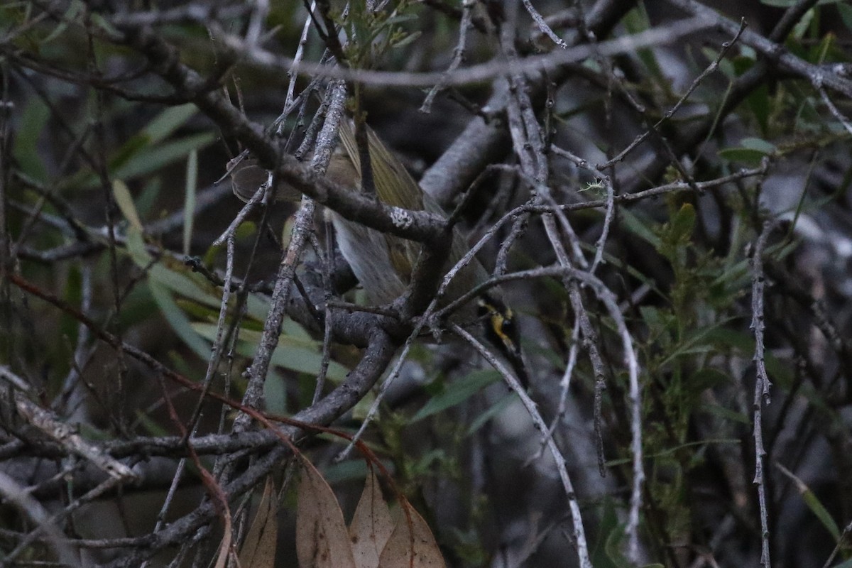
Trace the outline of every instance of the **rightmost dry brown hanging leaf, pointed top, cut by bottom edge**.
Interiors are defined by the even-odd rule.
[[[443,568],[444,557],[429,525],[408,502],[400,506],[400,518],[384,546],[379,568]]]

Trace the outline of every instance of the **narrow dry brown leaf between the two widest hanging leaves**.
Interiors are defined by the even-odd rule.
[[[394,519],[382,496],[376,473],[371,469],[349,525],[349,538],[357,568],[377,568],[379,555],[393,532]]]

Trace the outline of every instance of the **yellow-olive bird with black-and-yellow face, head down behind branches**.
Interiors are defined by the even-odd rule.
[[[444,209],[429,193],[423,192],[376,132],[366,124],[364,128],[376,198],[383,204],[423,210],[446,218]],[[362,192],[360,152],[351,119],[341,120],[338,136],[340,143],[331,155],[325,176],[339,186]],[[243,201],[248,201],[258,187],[268,180],[268,172],[252,158],[236,164],[232,160],[229,169],[233,192]],[[289,186],[279,187],[277,192],[279,200],[293,201],[300,196],[301,193]],[[328,209],[328,216],[335,230],[337,248],[365,290],[367,300],[374,305],[385,305],[402,295],[411,284],[412,269],[420,254],[421,244],[348,221],[331,209]],[[462,233],[453,227],[452,244],[444,269],[455,266],[468,250]],[[438,306],[448,305],[487,279],[485,267],[474,258],[452,278]],[[459,322],[480,319],[483,336],[509,361],[521,386],[529,386],[515,314],[504,303],[498,288],[482,292],[474,301],[454,313],[452,318]]]

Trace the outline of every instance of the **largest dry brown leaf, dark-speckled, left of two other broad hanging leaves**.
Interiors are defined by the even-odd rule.
[[[301,568],[355,568],[337,497],[307,460],[296,502],[296,556]]]

